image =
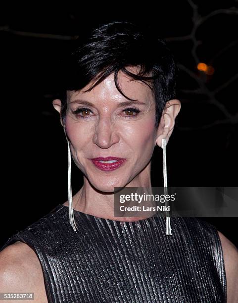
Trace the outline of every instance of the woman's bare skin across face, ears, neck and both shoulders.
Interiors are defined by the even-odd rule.
[[[131,71],[135,72],[137,69],[132,68]],[[83,120],[76,117],[72,110],[80,107],[80,104],[72,103],[68,106],[65,125],[61,116],[60,121],[65,135],[70,140],[72,158],[84,173],[84,185],[73,197],[74,209],[101,218],[135,221],[141,217],[113,216],[113,187],[151,186],[150,158],[153,149],[156,144],[161,147],[163,138],[168,142],[181,103],[179,100],[168,101],[159,127],[155,129],[155,104],[150,89],[143,82],[130,82],[130,78],[124,74],[119,73],[118,78],[126,96],[146,104],[117,108],[117,103],[129,100],[117,91],[111,75],[91,92],[67,92],[68,103],[78,99],[93,103],[94,106],[81,106],[89,108],[90,112],[80,114],[90,115],[90,118]],[[84,90],[89,87],[91,84]],[[55,99],[53,106],[61,113],[60,100]],[[141,112],[137,117],[126,118],[128,112],[123,112],[123,109],[127,107],[137,107]],[[133,115],[135,114],[133,112]],[[98,170],[88,159],[108,155],[127,158],[126,165],[111,172],[104,172]],[[68,206],[68,201],[64,205]],[[222,233],[218,234],[227,276],[227,302],[236,303],[238,250]],[[0,252],[0,292],[34,292],[34,302],[48,302],[40,261],[27,244],[17,241]]]

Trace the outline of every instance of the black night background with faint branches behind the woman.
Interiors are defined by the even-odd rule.
[[[167,145],[168,186],[237,186],[238,1],[114,4],[19,5],[1,12],[0,246],[68,200],[67,142],[52,106],[62,73],[58,61],[70,41],[98,23],[152,24],[178,61],[182,108]],[[214,73],[199,71],[199,62]],[[161,187],[162,149],[155,148],[152,163],[152,186]],[[81,186],[72,161],[72,194]],[[202,219],[238,246],[237,217]]]

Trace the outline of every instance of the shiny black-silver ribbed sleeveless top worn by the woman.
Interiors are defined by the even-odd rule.
[[[27,243],[42,265],[50,303],[224,303],[226,273],[215,226],[194,217],[134,222],[98,218],[68,207],[13,235],[1,248]]]

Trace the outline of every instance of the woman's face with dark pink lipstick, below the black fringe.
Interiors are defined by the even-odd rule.
[[[135,67],[128,70],[137,71]],[[147,186],[148,179],[150,182],[150,159],[157,134],[154,126],[155,101],[146,84],[130,80],[129,76],[119,72],[122,92],[140,103],[133,103],[120,94],[114,83],[114,74],[90,92],[83,91],[92,83],[77,92],[67,91],[65,132],[70,140],[71,155],[78,168],[99,191],[113,192],[113,187],[125,187],[129,183],[130,187]],[[122,102],[128,104],[120,104]],[[75,112],[80,108],[84,109]],[[109,171],[101,170],[91,160],[108,156],[126,160]]]

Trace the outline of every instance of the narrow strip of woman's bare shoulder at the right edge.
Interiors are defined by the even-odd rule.
[[[218,231],[222,244],[225,271],[227,277],[227,302],[235,303],[238,298],[238,249]]]

